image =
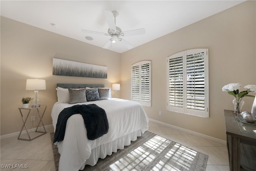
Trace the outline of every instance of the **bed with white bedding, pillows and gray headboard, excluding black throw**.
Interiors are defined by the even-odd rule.
[[[75,89],[72,91],[76,92],[86,90],[87,102],[74,99],[68,89]],[[90,99],[90,92],[95,89],[98,89],[98,100]],[[73,105],[98,105],[106,111],[109,124],[108,133],[95,140],[88,140],[82,115],[72,115],[66,123],[64,140],[55,142],[60,153],[59,171],[77,171],[84,169],[85,165],[95,165],[98,158],[104,159],[117,149],[124,149],[124,146],[136,141],[148,129],[148,117],[140,103],[111,98],[111,88],[102,84],[57,84],[56,90],[58,99],[51,113],[54,132],[59,113]],[[76,93],[75,98],[78,96]]]

